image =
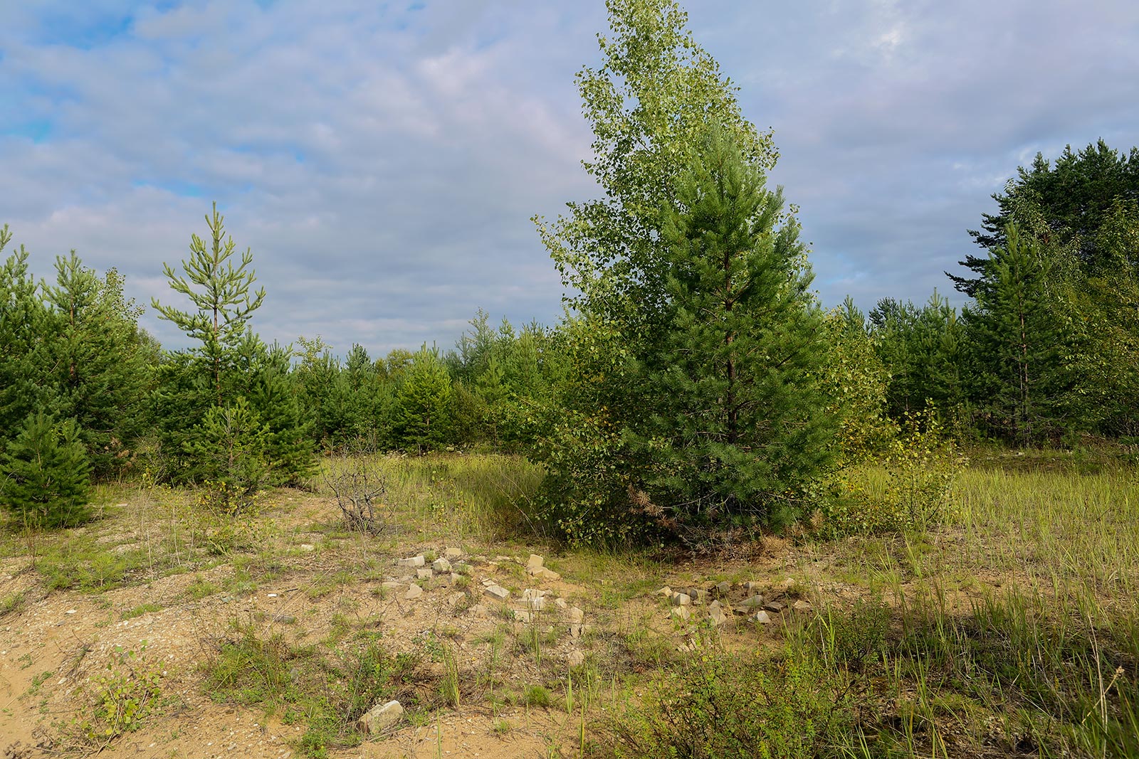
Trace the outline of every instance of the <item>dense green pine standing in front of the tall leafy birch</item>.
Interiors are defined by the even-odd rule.
[[[836,431],[798,228],[719,129],[677,197],[662,234],[665,325],[641,360],[650,413],[630,423],[648,454],[645,489],[696,525],[793,517],[781,504],[827,463]]]

